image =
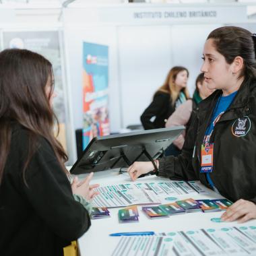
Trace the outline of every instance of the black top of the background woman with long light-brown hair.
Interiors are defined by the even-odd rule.
[[[166,92],[156,92],[150,106],[144,110],[140,117],[144,129],[164,128],[166,120],[174,112],[175,107],[172,106],[170,94]],[[152,118],[154,118],[152,121]]]

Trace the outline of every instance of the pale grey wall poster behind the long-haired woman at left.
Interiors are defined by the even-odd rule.
[[[59,32],[55,31],[4,31],[3,49],[28,49],[49,59],[53,65],[55,79],[55,97],[53,109],[59,121],[59,135],[67,152],[67,139],[65,134],[65,97],[63,88],[63,74],[61,69],[61,52]]]

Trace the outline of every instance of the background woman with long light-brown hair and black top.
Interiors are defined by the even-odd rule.
[[[187,79],[189,71],[185,67],[172,67],[164,84],[156,91],[150,106],[141,115],[143,128],[164,128],[174,110],[189,98]]]

